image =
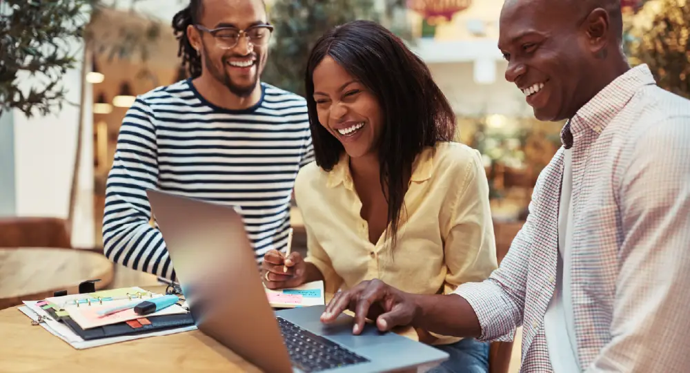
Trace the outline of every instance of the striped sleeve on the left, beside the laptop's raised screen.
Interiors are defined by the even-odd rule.
[[[103,251],[120,265],[175,280],[161,232],[150,224],[146,189],[158,187],[153,113],[138,97],[128,109],[106,184]]]

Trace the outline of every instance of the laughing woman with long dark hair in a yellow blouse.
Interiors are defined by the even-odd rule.
[[[441,294],[488,278],[497,262],[482,159],[452,142],[453,109],[424,62],[377,23],[355,21],[319,39],[306,93],[316,162],[299,171],[295,198],[308,254],[266,254],[266,287],[325,280],[336,291],[378,278]],[[488,371],[488,344],[430,337],[451,354],[437,371]]]

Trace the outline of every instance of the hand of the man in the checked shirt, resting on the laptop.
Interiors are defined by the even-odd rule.
[[[347,291],[333,296],[321,316],[323,323],[331,323],[344,310],[355,312],[353,334],[360,334],[366,318],[376,321],[382,332],[400,325],[410,325],[420,314],[414,294],[408,294],[381,280],[362,281]]]

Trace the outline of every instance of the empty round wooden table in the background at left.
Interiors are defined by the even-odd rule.
[[[55,291],[77,293],[79,283],[100,278],[96,289],[112,282],[113,264],[102,254],[78,249],[25,247],[0,249],[0,309],[38,300]]]

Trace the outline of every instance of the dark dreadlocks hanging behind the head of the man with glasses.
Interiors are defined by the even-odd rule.
[[[201,57],[187,37],[187,27],[195,25],[201,17],[201,0],[190,0],[189,5],[172,17],[172,30],[179,41],[177,57],[182,57],[182,68],[187,68],[190,77],[201,75]]]

